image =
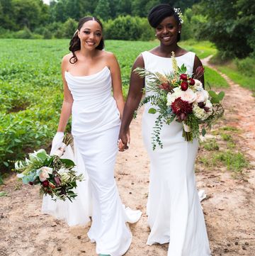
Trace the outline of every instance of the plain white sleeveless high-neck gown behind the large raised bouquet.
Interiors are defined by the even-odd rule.
[[[171,58],[142,52],[145,68],[152,72],[172,71]],[[176,57],[179,67],[186,65],[193,73],[195,53]],[[145,89],[147,81],[145,79]],[[146,92],[146,95],[152,92]],[[148,113],[145,105],[142,116],[142,135],[150,158],[148,225],[151,229],[147,245],[169,243],[168,256],[209,256],[210,247],[203,211],[196,189],[194,163],[198,140],[186,142],[181,123],[164,124],[161,133],[163,148],[152,150],[152,128],[156,114]]]

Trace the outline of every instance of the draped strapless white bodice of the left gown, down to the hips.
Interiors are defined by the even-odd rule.
[[[97,135],[120,126],[120,113],[111,94],[112,80],[108,67],[82,77],[65,72],[64,77],[74,99],[72,135]]]

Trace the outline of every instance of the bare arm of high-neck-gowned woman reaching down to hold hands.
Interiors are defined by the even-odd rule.
[[[134,71],[137,67],[145,67],[145,62],[142,55],[137,57],[135,63],[132,67],[130,76],[130,88],[128,91],[128,98],[123,111],[123,119],[120,126],[119,138],[122,140],[123,144],[126,146],[128,143],[127,133],[132,121],[135,110],[138,108],[140,101],[142,99],[142,89],[145,87],[145,79],[139,77],[139,75]]]

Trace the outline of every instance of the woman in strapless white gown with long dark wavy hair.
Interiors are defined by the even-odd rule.
[[[55,203],[45,196],[42,211],[64,218],[70,226],[86,224],[92,216],[88,235],[91,242],[96,242],[96,253],[120,256],[132,240],[125,222],[135,223],[141,212],[123,207],[115,184],[114,165],[124,100],[120,67],[111,52],[103,51],[102,30],[97,18],[79,21],[70,42],[72,53],[62,60],[64,102],[52,143],[53,152],[62,142],[72,113],[74,161],[77,172],[83,173],[86,180],[79,184],[73,203]]]

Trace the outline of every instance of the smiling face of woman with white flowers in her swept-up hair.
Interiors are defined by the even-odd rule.
[[[179,31],[181,31],[181,25],[177,23],[174,16],[169,16],[159,23],[156,28],[156,35],[163,45],[172,45],[177,43]]]

